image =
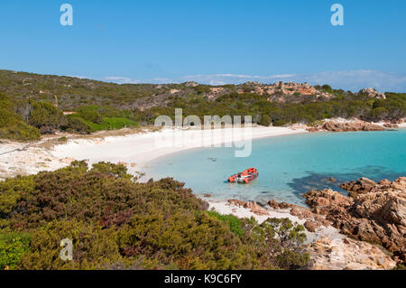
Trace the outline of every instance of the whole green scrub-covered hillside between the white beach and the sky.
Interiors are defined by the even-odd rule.
[[[382,95],[383,96],[383,95]],[[406,116],[406,94],[374,97],[328,85],[248,82],[208,86],[106,83],[0,70],[0,138],[26,141],[40,134],[153,125],[157,116],[253,116],[259,125],[313,124],[330,117],[399,121]],[[61,111],[75,114],[64,116]]]

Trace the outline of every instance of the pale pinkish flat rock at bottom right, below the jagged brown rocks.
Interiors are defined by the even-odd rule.
[[[322,237],[306,247],[310,270],[389,270],[396,262],[369,243]]]

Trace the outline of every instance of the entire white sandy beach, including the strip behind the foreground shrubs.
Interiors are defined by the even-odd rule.
[[[125,163],[129,172],[142,172],[148,163],[159,157],[178,153],[188,149],[198,149],[205,139],[211,139],[212,145],[224,146],[230,144],[230,138],[233,129],[218,130],[174,130],[165,129],[158,132],[148,132],[106,136],[104,138],[95,136],[94,138],[83,138],[69,140],[66,144],[58,144],[52,148],[28,147],[26,144],[2,144],[0,148],[0,172],[8,177],[15,174],[32,174],[41,171],[53,171],[69,165],[73,160],[88,160],[88,163],[97,163],[101,161],[111,163]],[[305,129],[294,127],[252,127],[241,128],[238,140],[246,141],[266,137],[295,135],[307,133]],[[201,135],[198,137],[197,135]],[[173,138],[172,138],[173,137]],[[160,139],[171,141],[173,139],[186,139],[184,143],[178,145],[166,145],[158,143]],[[21,151],[18,151],[18,150]],[[237,148],[235,148],[237,149]],[[16,150],[16,151],[14,151]],[[7,153],[14,151],[11,153]],[[141,181],[148,180],[148,175]],[[230,206],[226,201],[217,201],[205,199],[208,201],[210,208],[215,209],[221,214],[233,214],[240,218],[254,217],[260,223],[266,218],[291,218],[293,222],[303,224],[305,219],[292,216],[289,210],[275,211],[268,209],[269,216],[260,216],[251,212],[249,209]],[[307,232],[308,242],[322,236],[333,238],[341,237],[336,228],[320,228],[316,233]]]

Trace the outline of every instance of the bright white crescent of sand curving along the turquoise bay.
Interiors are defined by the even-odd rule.
[[[306,133],[305,129],[289,127],[253,127],[215,130],[164,129],[144,134],[79,139],[57,145],[51,152],[57,158],[71,157],[89,163],[109,161],[127,163],[129,172],[142,172],[149,162],[162,156],[189,149],[232,145],[233,139],[247,141],[272,136]],[[180,139],[179,143],[176,143]],[[209,144],[208,144],[209,143]],[[236,150],[240,148],[235,148]]]

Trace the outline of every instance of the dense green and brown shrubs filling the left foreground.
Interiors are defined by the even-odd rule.
[[[0,182],[2,269],[295,269],[304,228],[208,212],[183,183],[138,183],[123,165],[74,162]],[[73,242],[73,260],[60,241]]]

